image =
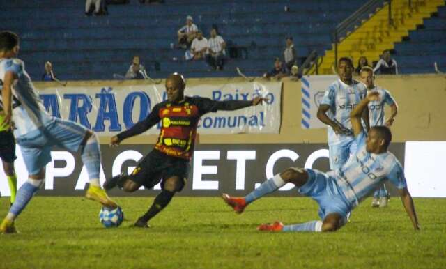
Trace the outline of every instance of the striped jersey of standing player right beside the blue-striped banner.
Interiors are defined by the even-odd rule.
[[[361,82],[353,80],[352,85],[347,85],[338,79],[331,84],[323,96],[321,105],[329,105],[328,116],[340,123],[345,128],[352,130],[350,112],[365,98],[367,89]],[[351,135],[336,134],[331,126],[328,126],[328,144],[341,144],[343,141],[354,140],[353,130]]]

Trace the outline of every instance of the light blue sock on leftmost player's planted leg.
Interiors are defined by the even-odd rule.
[[[22,210],[26,207],[29,200],[33,198],[33,195],[43,186],[45,180],[36,180],[28,178],[26,182],[17,191],[17,196],[15,197],[15,202],[11,206],[8,215],[6,216],[8,220],[15,220],[15,218],[20,215]]]

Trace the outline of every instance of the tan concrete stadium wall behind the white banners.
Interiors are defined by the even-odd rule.
[[[243,82],[242,78],[187,79],[187,85]],[[279,134],[201,135],[200,144],[299,144],[326,143],[325,129],[303,130],[301,121],[300,82],[283,80],[282,125]],[[68,82],[70,86],[107,86],[146,84],[144,81]],[[162,82],[164,83],[164,82]],[[399,105],[392,131],[395,142],[446,141],[446,75],[382,75],[376,84],[388,89]],[[55,82],[35,82],[36,87],[56,86]],[[388,108],[387,108],[388,111]],[[107,144],[108,137],[101,137]],[[125,144],[154,144],[156,136],[132,137]]]

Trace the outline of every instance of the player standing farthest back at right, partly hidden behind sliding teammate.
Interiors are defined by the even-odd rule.
[[[394,98],[390,94],[389,91],[375,86],[374,80],[374,70],[369,66],[364,66],[360,70],[361,82],[365,84],[368,92],[378,92],[380,95],[380,100],[369,102],[369,120],[370,126],[380,126],[385,125],[390,128],[392,126],[395,117],[398,113],[398,105],[395,102]],[[391,115],[384,121],[384,105],[387,104],[390,106]],[[372,207],[385,207],[387,206],[387,202],[389,200],[389,193],[385,188],[385,185],[381,185],[374,192],[374,198],[371,201]]]

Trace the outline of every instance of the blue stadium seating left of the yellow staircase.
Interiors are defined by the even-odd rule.
[[[152,6],[130,1],[110,5],[108,16],[86,17],[84,1],[15,0],[3,1],[0,17],[2,29],[20,35],[20,58],[33,79],[40,79],[45,61],[53,62],[61,79],[112,79],[126,72],[134,55],[141,56],[151,77],[174,71],[186,77],[233,77],[236,67],[259,76],[272,68],[272,59],[283,58],[286,36],[293,36],[298,56],[313,49],[323,54],[334,26],[366,1],[166,0]],[[205,36],[217,26],[224,40],[247,49],[247,59],[228,59],[220,72],[209,72],[203,61],[184,61],[184,51],[171,49],[171,43],[186,15],[194,17]],[[438,22],[432,22],[435,27]]]

